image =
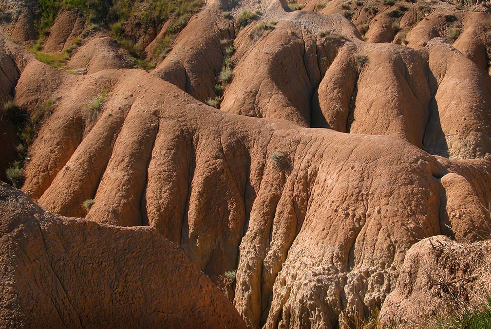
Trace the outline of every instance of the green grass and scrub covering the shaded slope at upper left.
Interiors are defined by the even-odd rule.
[[[203,4],[203,0],[40,0],[39,19],[36,22],[39,39],[33,52],[39,60],[59,68],[70,57],[71,52],[64,50],[61,54],[54,55],[54,58],[49,58],[50,56],[39,51],[58,12],[76,10],[90,24],[108,28],[112,37],[135,57],[135,66],[149,70],[153,65],[142,57],[144,49],[137,45],[138,36],[126,33],[127,23],[131,21],[132,26],[141,31],[153,28],[158,32],[165,22],[170,21],[156,47],[156,55],[163,58],[171,49],[175,35],[187,25],[191,16]]]

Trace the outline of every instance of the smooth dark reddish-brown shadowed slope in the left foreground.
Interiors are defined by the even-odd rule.
[[[0,327],[245,328],[154,229],[56,216],[0,184]]]

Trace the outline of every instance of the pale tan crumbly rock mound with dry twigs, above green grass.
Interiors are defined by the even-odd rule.
[[[490,241],[459,244],[444,236],[411,247],[396,290],[381,310],[385,325],[427,324],[428,318],[486,301],[490,291]]]

